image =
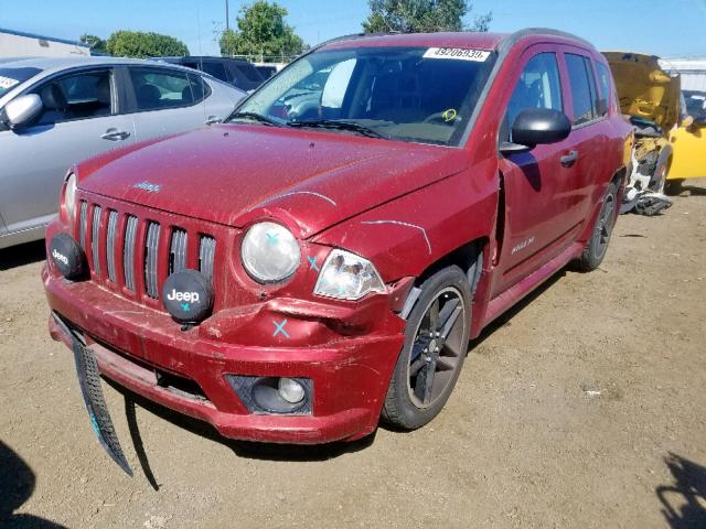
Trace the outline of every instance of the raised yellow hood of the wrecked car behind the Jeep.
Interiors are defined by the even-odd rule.
[[[668,132],[678,120],[680,78],[664,72],[654,55],[625,52],[603,55],[616,79],[622,114],[650,119]]]

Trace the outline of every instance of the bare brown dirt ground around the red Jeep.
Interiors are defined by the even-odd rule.
[[[43,258],[0,251],[3,528],[706,527],[706,186],[622,216],[600,270],[559,274],[488,330],[416,432],[248,444],[145,403],[136,431],[105,386],[133,478],[47,335]]]

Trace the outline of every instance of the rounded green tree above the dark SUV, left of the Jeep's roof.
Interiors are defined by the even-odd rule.
[[[287,9],[276,2],[256,0],[244,6],[236,19],[237,31],[225,30],[221,34],[221,54],[255,56],[265,62],[300,54],[306,50],[304,42],[287,24],[285,17]]]

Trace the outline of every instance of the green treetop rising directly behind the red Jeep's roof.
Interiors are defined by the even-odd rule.
[[[488,31],[492,12],[475,17],[466,25],[472,7],[468,0],[370,0],[365,33],[432,33],[436,31]]]

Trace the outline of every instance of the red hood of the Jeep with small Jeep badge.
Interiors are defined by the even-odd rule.
[[[200,129],[119,154],[79,165],[79,187],[234,227],[279,218],[302,238],[468,161],[461,149],[256,125]]]

